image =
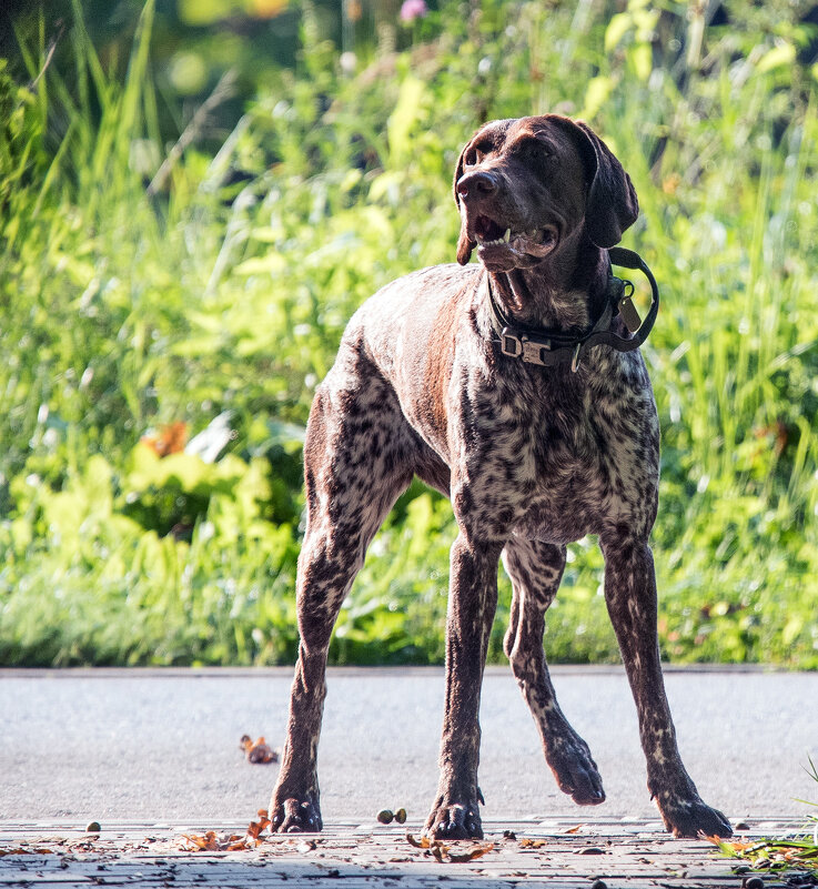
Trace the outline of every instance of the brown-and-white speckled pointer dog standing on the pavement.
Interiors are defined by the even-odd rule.
[[[425,832],[483,835],[478,710],[501,557],[513,585],[504,648],[546,761],[576,802],[605,799],[543,651],[566,544],[595,534],[650,796],[676,836],[729,836],[681,762],[659,663],[648,545],[658,421],[609,253],[638,215],[630,179],[590,128],[545,114],[482,127],[460,155],[454,195],[458,264],[414,272],[367,300],[315,393],[299,658],[271,829],[322,828],[316,750],[330,636],[366,547],[416,475],[451,498],[458,527],[440,784]],[[474,251],[479,262],[468,264]]]

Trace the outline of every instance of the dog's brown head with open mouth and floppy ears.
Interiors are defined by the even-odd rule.
[[[610,247],[639,213],[628,174],[585,123],[559,114],[492,121],[463,149],[454,175],[457,262],[528,269],[584,225]]]

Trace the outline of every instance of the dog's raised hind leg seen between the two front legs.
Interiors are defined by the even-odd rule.
[[[545,612],[563,576],[565,547],[513,537],[503,550],[503,564],[514,589],[504,648],[539,729],[545,759],[559,789],[575,802],[603,802],[596,762],[559,709],[543,651]]]

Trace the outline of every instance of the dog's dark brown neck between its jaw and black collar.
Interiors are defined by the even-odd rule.
[[[508,317],[528,327],[580,334],[605,311],[607,251],[592,244],[584,230],[531,269],[489,274]]]

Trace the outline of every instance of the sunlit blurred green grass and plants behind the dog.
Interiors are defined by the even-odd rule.
[[[818,667],[818,117],[798,2],[60,0],[0,19],[0,663],[294,657],[301,444],[345,321],[452,261],[484,120],[583,117],[663,289],[660,642]],[[3,13],[0,13],[2,16]],[[420,483],[336,663],[443,658]],[[615,660],[594,541],[546,647]],[[502,658],[502,578],[491,657]]]

